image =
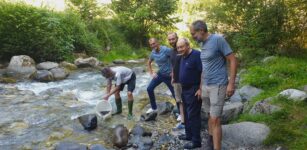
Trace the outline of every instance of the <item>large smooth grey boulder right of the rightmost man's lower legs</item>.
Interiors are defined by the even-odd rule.
[[[229,147],[261,146],[270,133],[270,128],[264,124],[241,122],[223,125],[223,143]]]

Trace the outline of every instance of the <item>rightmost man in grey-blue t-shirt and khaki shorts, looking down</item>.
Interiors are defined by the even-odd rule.
[[[204,21],[192,23],[190,33],[201,46],[202,99],[204,109],[209,113],[209,139],[207,146],[220,150],[222,140],[221,116],[225,97],[233,95],[237,61],[227,41],[218,34],[208,33]],[[228,81],[227,61],[230,63],[230,79]],[[213,143],[213,145],[212,145]]]

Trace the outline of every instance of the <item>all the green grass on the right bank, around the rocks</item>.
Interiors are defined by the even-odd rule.
[[[277,57],[268,62],[248,68],[243,74],[243,84],[249,84],[264,90],[251,100],[255,102],[276,96],[279,92],[307,84],[307,60]],[[271,115],[242,114],[236,122],[253,121],[265,123],[271,133],[264,141],[265,145],[282,145],[288,149],[307,148],[307,102],[294,102],[277,97],[273,100],[281,110]]]

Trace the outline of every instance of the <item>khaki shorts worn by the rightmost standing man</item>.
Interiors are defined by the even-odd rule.
[[[221,117],[226,97],[226,85],[203,85],[202,100],[206,113],[210,116]]]

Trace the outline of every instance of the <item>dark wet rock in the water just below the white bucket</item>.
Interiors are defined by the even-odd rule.
[[[79,122],[84,130],[91,131],[97,128],[97,116],[95,114],[88,114],[78,117]]]

